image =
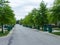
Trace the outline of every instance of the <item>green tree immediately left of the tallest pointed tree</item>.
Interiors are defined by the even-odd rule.
[[[35,27],[36,28],[38,28],[38,29],[40,29],[40,25],[41,25],[41,16],[40,16],[40,12],[39,12],[39,10],[35,10],[35,12],[34,12],[34,17],[33,17],[33,21],[34,21],[34,24],[35,24]]]

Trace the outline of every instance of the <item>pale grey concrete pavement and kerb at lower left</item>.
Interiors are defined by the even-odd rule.
[[[0,37],[0,45],[8,45],[13,30],[14,28],[10,31],[10,33],[7,36]]]

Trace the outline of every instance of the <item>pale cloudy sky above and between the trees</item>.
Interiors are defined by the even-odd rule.
[[[16,20],[24,18],[33,8],[39,8],[42,0],[9,0],[9,5],[15,13]],[[51,7],[54,0],[44,0]]]

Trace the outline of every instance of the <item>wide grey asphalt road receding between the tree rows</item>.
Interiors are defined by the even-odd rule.
[[[60,37],[16,24],[7,45],[60,45]]]

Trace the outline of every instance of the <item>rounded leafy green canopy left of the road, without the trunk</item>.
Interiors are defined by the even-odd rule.
[[[0,22],[3,24],[11,24],[15,22],[13,10],[5,4],[5,7],[0,7]]]

